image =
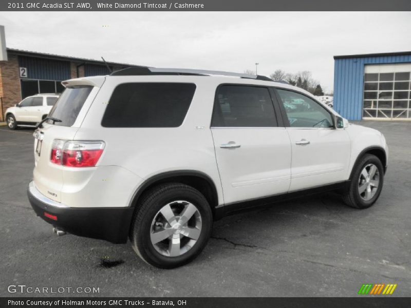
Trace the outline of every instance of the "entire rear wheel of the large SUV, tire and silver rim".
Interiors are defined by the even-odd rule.
[[[201,253],[212,226],[210,205],[197,189],[180,183],[162,184],[137,204],[130,240],[148,264],[174,268]]]

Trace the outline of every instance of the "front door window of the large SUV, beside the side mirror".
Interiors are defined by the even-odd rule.
[[[291,127],[332,127],[331,114],[303,94],[277,89]]]

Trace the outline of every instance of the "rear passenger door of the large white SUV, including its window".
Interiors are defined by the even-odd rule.
[[[211,131],[225,204],[287,192],[291,145],[266,87],[217,88]]]

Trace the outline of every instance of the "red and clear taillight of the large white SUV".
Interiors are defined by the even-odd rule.
[[[67,167],[94,167],[104,150],[103,141],[54,140],[50,161]]]

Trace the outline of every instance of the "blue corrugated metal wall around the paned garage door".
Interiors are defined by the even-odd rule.
[[[361,120],[364,66],[389,63],[411,63],[411,54],[335,59],[334,109],[348,120]]]

